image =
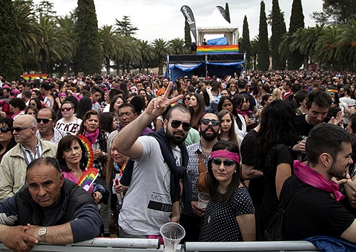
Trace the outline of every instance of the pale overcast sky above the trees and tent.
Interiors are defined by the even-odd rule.
[[[77,0],[49,0],[54,3],[58,15],[69,14],[77,6]],[[34,0],[39,3],[40,0]],[[291,16],[293,0],[279,0],[279,7],[284,12],[287,30]],[[152,42],[162,38],[172,40],[184,39],[184,17],[180,12],[183,5],[188,5],[196,20],[197,27],[203,26],[212,14],[215,6],[225,8],[226,0],[94,0],[98,25],[115,24],[115,19],[130,16],[131,22],[138,27],[136,38]],[[272,9],[272,0],[265,0],[266,15]],[[310,18],[313,11],[322,10],[322,0],[302,0],[305,26],[314,26]],[[234,0],[229,2],[231,23],[237,25],[239,37],[242,36],[244,16],[247,16],[250,39],[258,34],[260,0]],[[269,27],[268,37],[271,36]],[[194,38],[192,36],[192,40]]]

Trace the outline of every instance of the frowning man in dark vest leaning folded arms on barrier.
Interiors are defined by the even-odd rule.
[[[0,241],[6,247],[29,251],[39,242],[69,244],[99,234],[101,219],[93,198],[64,179],[55,158],[35,159],[26,176],[27,184],[0,202]]]

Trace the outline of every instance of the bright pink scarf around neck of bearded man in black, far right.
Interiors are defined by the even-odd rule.
[[[317,173],[313,168],[303,165],[299,160],[294,161],[294,173],[297,175],[298,179],[304,183],[317,189],[330,192],[332,196],[335,197],[336,201],[340,201],[345,198],[345,196],[339,192],[339,186],[337,183],[334,181],[328,181],[324,176]]]

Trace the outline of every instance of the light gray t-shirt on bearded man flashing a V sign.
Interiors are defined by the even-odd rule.
[[[119,214],[119,226],[132,235],[158,235],[172,213],[171,171],[154,137],[140,136],[138,141],[143,153],[135,159],[130,187]]]

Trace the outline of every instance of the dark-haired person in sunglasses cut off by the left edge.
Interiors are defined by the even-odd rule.
[[[3,155],[16,145],[14,135],[12,134],[11,118],[0,119],[0,163]]]

